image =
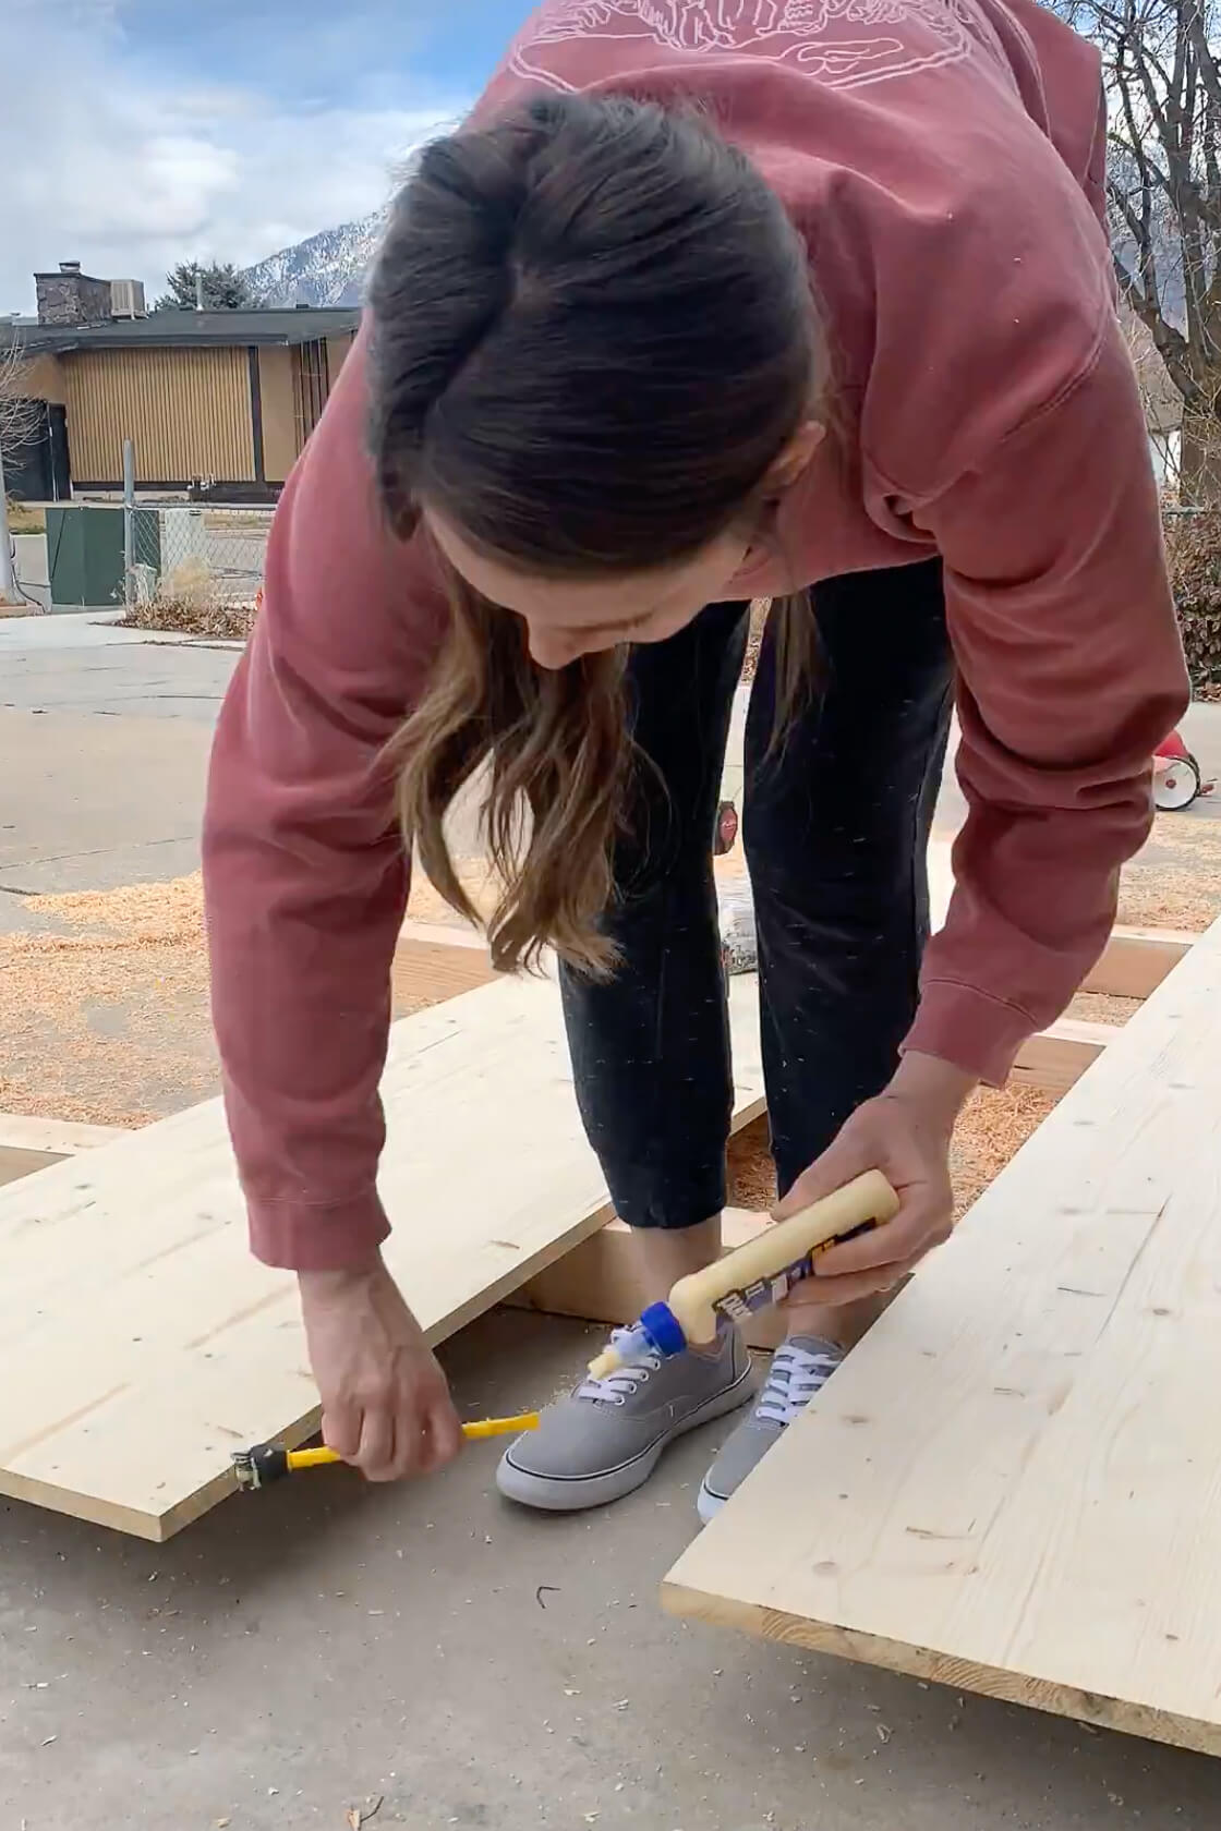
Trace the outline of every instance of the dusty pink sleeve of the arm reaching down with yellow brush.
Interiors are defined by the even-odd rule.
[[[408,861],[383,749],[443,628],[427,557],[381,522],[364,399],[359,339],[275,515],[203,831],[212,1014],[251,1243],[295,1269],[353,1263],[388,1232],[377,1084]]]

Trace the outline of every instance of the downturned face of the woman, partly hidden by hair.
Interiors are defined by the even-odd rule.
[[[514,612],[525,624],[529,652],[540,668],[564,668],[619,643],[663,643],[705,604],[729,595],[749,542],[718,535],[677,566],[608,579],[546,579],[489,558],[463,540],[452,522],[425,509],[425,522],[454,571],[480,597]]]

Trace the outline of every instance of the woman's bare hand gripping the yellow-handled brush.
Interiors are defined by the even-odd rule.
[[[297,1274],[322,1437],[370,1481],[432,1474],[463,1446],[445,1373],[381,1262]]]

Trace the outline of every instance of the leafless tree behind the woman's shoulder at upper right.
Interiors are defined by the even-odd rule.
[[[1184,500],[1221,504],[1221,0],[1062,0],[1102,48],[1113,258],[1183,401]]]

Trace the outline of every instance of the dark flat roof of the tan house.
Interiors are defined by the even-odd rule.
[[[355,306],[309,306],[295,311],[150,311],[146,319],[112,324],[31,324],[0,319],[0,346],[20,342],[29,355],[68,350],[141,350],[232,344],[304,344],[355,331]]]

